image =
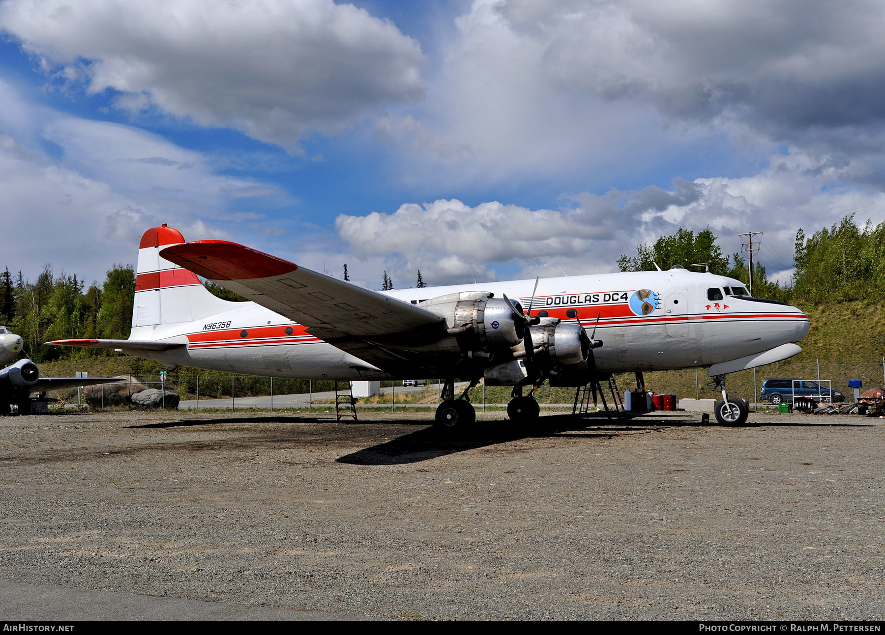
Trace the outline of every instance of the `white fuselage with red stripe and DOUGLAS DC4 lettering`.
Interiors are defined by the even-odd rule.
[[[781,303],[721,292],[743,283],[674,269],[383,292],[421,302],[458,291],[507,295],[551,318],[578,322],[597,340],[604,372],[704,367],[802,340],[808,318]],[[714,289],[722,299],[716,300]],[[567,312],[575,310],[576,316]],[[598,321],[597,321],[598,320]],[[306,327],[254,302],[227,303],[210,318],[153,327],[150,339],[187,341],[187,348],[144,354],[167,365],[295,379],[385,379],[390,376],[306,333]],[[402,378],[396,378],[402,379]]]

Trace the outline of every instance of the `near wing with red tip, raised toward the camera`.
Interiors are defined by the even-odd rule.
[[[416,348],[447,336],[438,313],[351,285],[228,241],[194,241],[160,252],[166,260],[308,327],[308,333],[385,371],[431,368]]]

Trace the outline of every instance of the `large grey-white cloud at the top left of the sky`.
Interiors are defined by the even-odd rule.
[[[418,42],[332,0],[7,0],[0,28],[50,73],[298,150],[423,94]]]

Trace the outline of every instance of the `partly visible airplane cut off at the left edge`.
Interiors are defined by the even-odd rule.
[[[24,342],[19,335],[12,333],[5,326],[0,326],[0,366],[9,363],[21,351]],[[93,384],[111,384],[119,381],[116,377],[41,377],[37,364],[29,359],[18,362],[0,370],[0,415],[8,415],[11,404],[19,406],[19,415],[31,412],[31,393],[44,390],[61,390],[72,386],[91,386]]]

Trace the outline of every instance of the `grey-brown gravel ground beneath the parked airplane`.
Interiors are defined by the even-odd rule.
[[[0,418],[0,579],[352,616],[885,615],[864,417]],[[20,619],[20,616],[6,616]]]

